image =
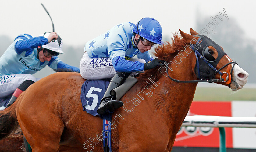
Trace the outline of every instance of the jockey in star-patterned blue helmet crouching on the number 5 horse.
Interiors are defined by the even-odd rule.
[[[163,61],[153,59],[148,50],[162,45],[162,27],[154,18],[142,18],[136,25],[119,24],[86,43],[80,61],[80,74],[85,79],[111,78],[101,99],[98,114],[113,112],[123,106],[112,100],[111,91],[124,83],[132,72],[162,66]],[[137,55],[138,59],[132,58]]]

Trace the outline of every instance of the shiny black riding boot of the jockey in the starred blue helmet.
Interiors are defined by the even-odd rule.
[[[113,89],[119,87],[124,83],[126,78],[131,73],[126,73],[126,72],[116,72],[116,74],[113,76],[113,78],[110,80],[108,88],[101,99],[101,104],[98,107],[97,113],[98,114],[104,114],[105,112],[114,112],[115,109],[122,107],[123,102],[116,100],[116,97],[113,97],[111,92]],[[113,98],[112,98],[113,97]],[[112,98],[112,100],[111,100]]]

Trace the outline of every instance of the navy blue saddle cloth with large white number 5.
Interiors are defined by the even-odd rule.
[[[81,102],[83,110],[87,113],[93,116],[99,115],[102,119],[105,118],[111,121],[111,114],[105,113],[100,115],[97,113],[100,101],[108,88],[108,84],[109,81],[106,80],[86,80],[81,87]]]

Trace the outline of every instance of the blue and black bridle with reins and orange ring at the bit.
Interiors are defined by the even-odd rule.
[[[197,40],[196,45],[200,42],[200,40],[201,40],[201,37]],[[229,84],[229,88],[230,88],[231,75],[232,75],[233,68],[234,68],[235,64],[237,64],[236,61],[234,61],[234,62],[229,62],[228,64],[224,65],[222,68],[220,68],[220,69],[218,70],[218,69],[216,69],[215,67],[213,67],[212,64],[210,64],[208,61],[206,61],[205,58],[204,58],[204,56],[201,55],[201,54],[197,51],[197,49],[194,48],[194,47],[191,45],[191,43],[190,43],[190,47],[192,48],[192,50],[195,52],[195,55],[196,55],[196,59],[197,59],[197,69],[198,69],[199,79],[200,79],[200,71],[199,71],[199,61],[198,61],[197,55],[198,55],[206,64],[208,64],[208,66],[209,66],[210,68],[212,68],[212,69],[215,71],[215,73],[214,73],[214,78],[215,78],[215,75],[216,75],[217,73],[220,74],[220,78],[219,78],[219,79],[206,79],[206,80],[176,80],[176,79],[173,79],[173,78],[171,78],[171,77],[169,76],[169,74],[168,74],[168,63],[165,61],[166,73],[167,73],[168,77],[169,77],[172,81],[178,82],[178,83],[198,83],[198,82],[209,82],[209,83],[213,83],[213,82],[224,82],[224,83],[226,83],[226,84]],[[230,58],[229,58],[229,59],[230,59]],[[230,59],[230,60],[231,60],[231,59]],[[232,60],[231,60],[231,61],[232,61]],[[231,65],[232,63],[233,63],[233,66],[232,66],[231,71],[230,71],[230,73],[229,73],[230,65]],[[238,65],[238,64],[237,64],[237,65]],[[223,69],[223,68],[226,67],[226,66],[228,66],[227,72],[223,72],[223,73],[220,72],[220,70]],[[227,75],[225,81],[224,81],[224,79],[222,78],[224,74]],[[229,77],[229,74],[230,74],[230,77]]]

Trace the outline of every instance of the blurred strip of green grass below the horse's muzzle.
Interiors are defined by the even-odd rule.
[[[256,88],[242,88],[232,91],[230,88],[197,87],[194,101],[256,101]]]

